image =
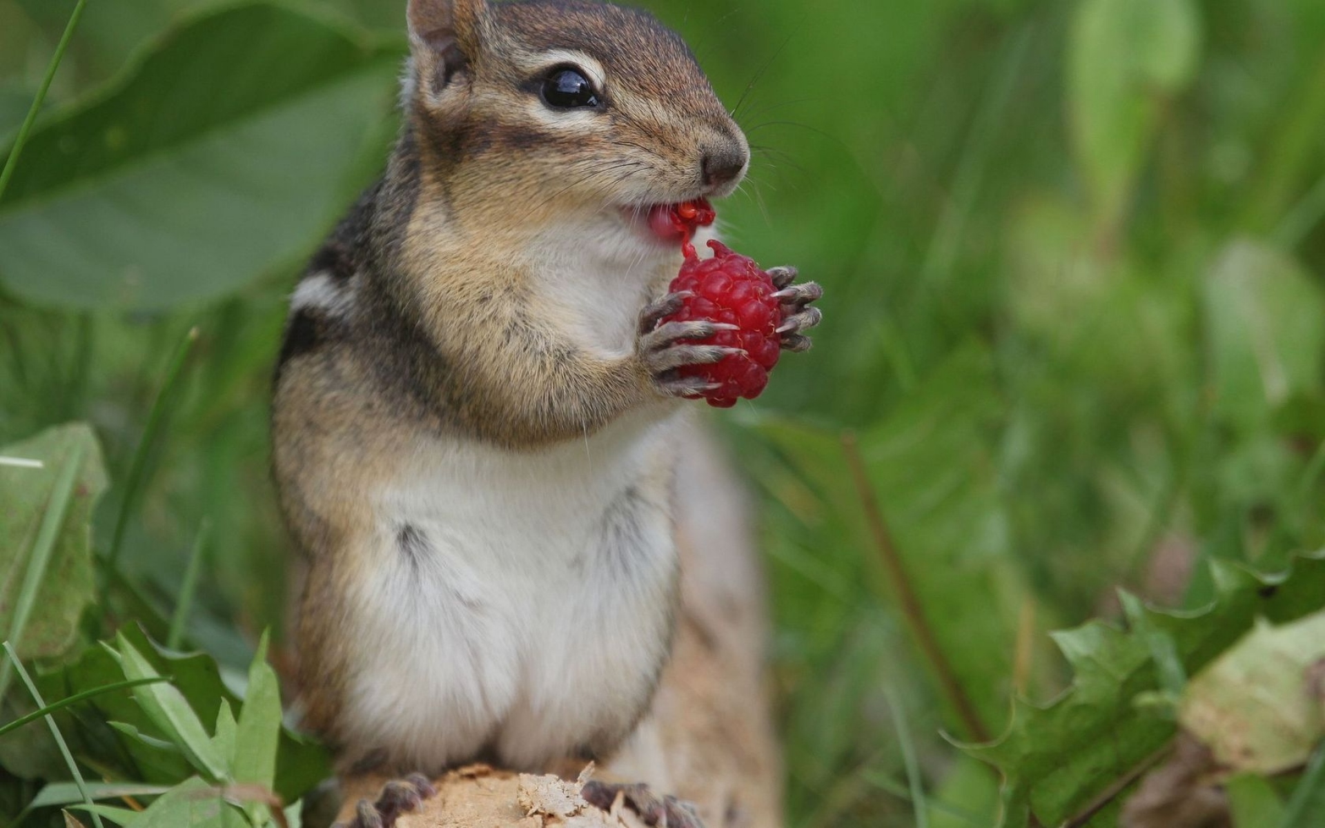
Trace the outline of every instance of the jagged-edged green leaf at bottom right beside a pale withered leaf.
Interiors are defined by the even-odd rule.
[[[1211,564],[1215,599],[1196,612],[1165,612],[1125,603],[1133,629],[1161,632],[1187,674],[1199,672],[1238,641],[1257,617],[1285,623],[1325,604],[1325,554],[1295,559],[1291,572],[1257,575]],[[1047,706],[1018,699],[1007,733],[965,750],[1003,772],[1003,823],[1026,825],[1072,817],[1173,737],[1166,719],[1138,710],[1138,694],[1161,686],[1146,636],[1092,621],[1053,635],[1075,676]]]

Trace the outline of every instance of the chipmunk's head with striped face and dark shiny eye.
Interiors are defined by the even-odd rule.
[[[659,245],[651,208],[726,196],[745,175],[745,135],[681,38],[645,12],[409,0],[408,19],[421,178],[461,224],[611,224]]]

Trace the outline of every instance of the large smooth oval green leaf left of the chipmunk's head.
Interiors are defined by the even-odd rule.
[[[265,3],[170,32],[33,132],[0,200],[0,284],[160,309],[302,256],[371,172],[364,154],[380,164],[398,64],[398,48]]]

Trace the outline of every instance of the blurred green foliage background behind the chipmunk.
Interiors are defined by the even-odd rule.
[[[170,608],[208,522],[188,639],[240,669],[285,612],[285,301],[384,158],[404,0],[170,34],[224,5],[89,5],[0,199],[0,445],[87,420],[125,481],[196,326],[95,543],[130,492],[121,568]],[[1325,539],[1325,4],[645,5],[741,101],[727,237],[825,286],[815,350],[718,417],[763,506],[790,824],[914,824],[904,746],[929,824],[991,824],[996,776],[939,730],[1060,690],[1045,631]],[[72,8],[0,0],[0,143]]]

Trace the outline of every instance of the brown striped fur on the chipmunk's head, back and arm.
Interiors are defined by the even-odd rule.
[[[355,551],[370,546],[367,503],[420,435],[527,452],[676,404],[637,350],[580,340],[570,299],[545,284],[547,234],[725,195],[705,185],[704,155],[747,155],[684,42],[644,12],[413,0],[409,21],[401,138],[315,256],[301,285],[315,301],[295,294],[276,383],[276,476],[310,564],[302,696],[307,722],[333,742],[358,641],[343,596],[378,566]],[[598,62],[604,111],[549,115],[538,86],[550,49]],[[636,307],[678,264],[662,256],[637,280]],[[352,756],[356,746],[343,747]]]

